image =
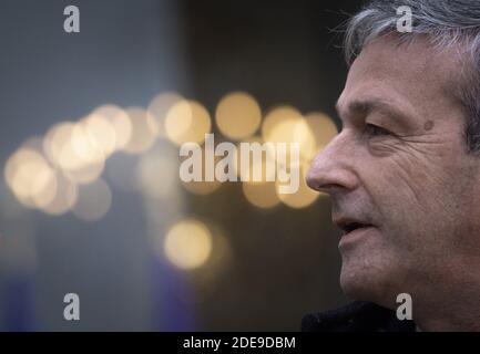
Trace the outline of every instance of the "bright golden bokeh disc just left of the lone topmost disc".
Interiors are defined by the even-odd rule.
[[[208,111],[195,101],[176,102],[166,114],[166,136],[178,146],[184,143],[203,143],[211,128]]]

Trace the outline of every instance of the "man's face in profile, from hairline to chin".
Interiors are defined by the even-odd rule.
[[[456,58],[426,40],[386,38],[348,73],[337,105],[343,131],[307,180],[331,197],[346,233],[340,282],[356,300],[391,308],[402,292],[415,301],[436,287],[461,287],[440,280],[466,271],[478,249],[479,157],[467,152],[464,113],[451,94]]]

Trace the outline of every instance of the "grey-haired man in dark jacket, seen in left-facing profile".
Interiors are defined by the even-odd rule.
[[[398,31],[405,6],[411,32]],[[345,51],[343,129],[307,183],[331,198],[340,284],[359,302],[303,330],[478,331],[480,1],[374,1]],[[415,322],[396,317],[402,293]]]

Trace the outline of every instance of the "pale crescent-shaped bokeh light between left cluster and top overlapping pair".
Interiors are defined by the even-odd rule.
[[[157,124],[153,116],[141,107],[129,107],[126,113],[131,121],[132,135],[123,149],[129,154],[144,153],[155,143]]]

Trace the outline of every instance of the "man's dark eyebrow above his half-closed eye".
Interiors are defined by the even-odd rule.
[[[347,104],[345,111],[340,107],[337,101],[335,108],[337,110],[340,119],[344,119],[345,116],[351,115],[361,115],[365,117],[372,112],[380,112],[391,116],[395,118],[396,123],[404,127],[411,126],[411,123],[415,121],[411,114],[405,113],[402,110],[399,110],[388,101],[381,98],[355,100]]]

